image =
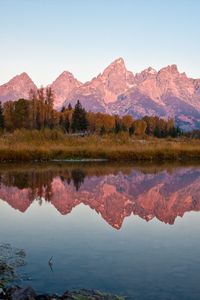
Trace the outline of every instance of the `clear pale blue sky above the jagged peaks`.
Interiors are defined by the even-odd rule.
[[[90,80],[118,57],[200,77],[200,0],[0,0],[0,84],[26,71]]]

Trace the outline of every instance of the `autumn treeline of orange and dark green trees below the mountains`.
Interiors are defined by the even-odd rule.
[[[75,107],[71,104],[61,111],[53,108],[52,89],[40,88],[30,91],[29,100],[19,99],[0,105],[0,128],[13,132],[15,129],[42,130],[61,129],[67,134],[88,133],[106,134],[129,132],[130,135],[145,134],[156,137],[177,137],[181,134],[173,119],[164,120],[157,116],[145,116],[134,120],[132,116],[109,115],[106,113],[86,112],[78,100]]]

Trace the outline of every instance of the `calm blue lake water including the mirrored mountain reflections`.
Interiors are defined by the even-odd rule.
[[[0,243],[27,254],[20,285],[200,299],[200,166],[2,165],[0,181]]]

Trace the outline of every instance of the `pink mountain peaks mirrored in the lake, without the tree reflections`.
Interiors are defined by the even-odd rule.
[[[69,214],[79,204],[89,206],[112,227],[120,229],[124,219],[131,214],[151,221],[154,218],[173,224],[187,211],[200,210],[200,171],[180,169],[172,174],[160,172],[143,174],[133,171],[130,175],[86,177],[77,191],[74,183],[55,177],[47,193],[47,187],[35,189],[62,214]],[[0,198],[15,209],[25,212],[32,203],[30,188],[1,184]]]

